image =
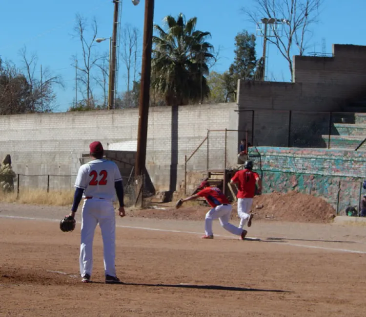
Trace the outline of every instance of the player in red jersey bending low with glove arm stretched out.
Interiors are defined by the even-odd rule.
[[[212,207],[207,213],[204,222],[205,235],[203,239],[213,239],[212,222],[214,219],[219,219],[221,226],[232,234],[240,236],[241,240],[244,240],[247,233],[246,230],[238,228],[229,223],[232,206],[224,193],[217,187],[210,187],[208,181],[203,181],[200,185],[201,191],[197,194],[187,197],[182,202],[197,199],[198,197],[204,197],[207,203]]]

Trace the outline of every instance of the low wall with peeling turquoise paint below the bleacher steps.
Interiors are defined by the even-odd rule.
[[[249,155],[263,177],[264,193],[295,190],[323,197],[339,213],[349,205],[358,207],[364,195],[362,152],[257,147],[250,148]]]

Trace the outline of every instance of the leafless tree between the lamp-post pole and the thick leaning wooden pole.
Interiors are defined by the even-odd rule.
[[[131,82],[136,81],[138,74],[139,39],[138,28],[125,24],[121,32],[121,58],[126,68],[127,93],[130,91]]]

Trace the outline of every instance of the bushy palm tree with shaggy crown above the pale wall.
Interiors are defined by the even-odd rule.
[[[197,18],[186,21],[164,18],[168,29],[154,25],[152,87],[165,97],[167,105],[186,105],[209,95],[206,77],[215,61],[214,47],[206,42],[209,32],[196,30]],[[201,95],[202,94],[202,95]]]

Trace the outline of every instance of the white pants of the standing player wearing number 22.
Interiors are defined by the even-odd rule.
[[[116,276],[116,216],[113,203],[106,200],[88,199],[81,211],[80,274],[92,274],[93,239],[99,223],[103,239],[105,275]]]

